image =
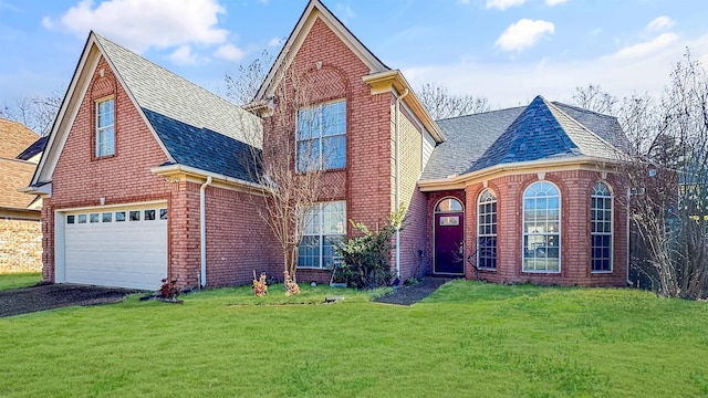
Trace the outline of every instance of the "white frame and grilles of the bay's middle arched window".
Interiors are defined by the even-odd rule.
[[[546,199],[551,199],[551,198],[558,198],[558,231],[535,231],[535,232],[529,232],[527,230],[527,222],[531,222],[529,220],[527,220],[527,206],[525,206],[525,200],[527,199],[534,199],[538,200],[540,199],[540,197],[537,195],[534,197],[529,197],[527,198],[528,192],[535,186],[540,186],[540,185],[548,185],[551,188],[555,189],[555,192],[558,193],[556,196],[546,196]],[[546,274],[560,274],[561,270],[562,270],[562,264],[561,264],[561,259],[562,259],[562,221],[563,221],[563,211],[562,211],[562,196],[561,196],[561,189],[553,182],[546,181],[546,180],[541,180],[541,181],[535,181],[533,184],[531,184],[530,186],[527,187],[527,189],[523,190],[523,195],[521,197],[521,209],[522,209],[522,219],[521,219],[521,272],[524,273],[546,273]],[[538,210],[538,208],[534,209],[534,218],[538,214],[535,211]],[[546,210],[550,210],[550,208],[546,206]],[[546,220],[546,226],[548,226],[548,220]],[[541,238],[545,238],[546,241],[546,245],[545,247],[540,247],[540,248],[544,248],[546,250],[546,264],[545,264],[545,269],[539,270],[535,268],[535,261],[534,261],[534,269],[528,269],[527,268],[527,255],[525,255],[525,251],[527,251],[527,238],[534,238],[534,237],[541,237]],[[558,240],[558,270],[549,270],[549,262],[548,262],[548,249],[550,248],[550,245],[548,245],[548,241],[550,237],[555,237]],[[538,250],[538,248],[534,248],[533,251],[535,252]],[[537,256],[534,255],[533,259],[537,259]]]

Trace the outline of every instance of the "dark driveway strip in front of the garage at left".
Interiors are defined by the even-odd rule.
[[[0,292],[0,317],[72,305],[118,303],[136,291],[125,289],[45,284]]]

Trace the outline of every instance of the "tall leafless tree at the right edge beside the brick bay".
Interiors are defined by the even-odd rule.
[[[677,63],[658,102],[635,97],[620,111],[632,145],[633,262],[662,296],[708,297],[708,74]]]

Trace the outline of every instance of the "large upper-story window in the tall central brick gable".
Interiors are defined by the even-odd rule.
[[[298,171],[346,166],[346,101],[298,111]]]

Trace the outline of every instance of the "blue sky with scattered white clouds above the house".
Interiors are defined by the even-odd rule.
[[[570,102],[600,84],[660,93],[686,48],[708,65],[702,0],[323,0],[414,87],[493,108]],[[64,93],[91,29],[223,94],[223,76],[279,51],[306,0],[0,0],[0,105]]]

